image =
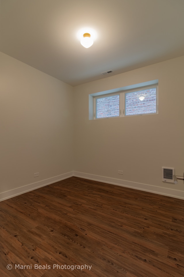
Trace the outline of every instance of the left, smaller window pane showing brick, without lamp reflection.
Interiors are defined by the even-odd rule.
[[[97,118],[119,116],[119,95],[97,98]]]

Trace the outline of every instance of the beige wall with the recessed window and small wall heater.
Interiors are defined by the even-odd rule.
[[[147,184],[183,192],[183,181],[177,185],[162,182],[162,166],[175,167],[177,175],[184,171],[183,76],[184,57],[179,57],[75,87],[76,175],[87,173],[99,180],[111,178],[114,183],[122,179],[131,186],[140,183],[140,188]],[[156,79],[157,115],[89,120],[90,93]]]

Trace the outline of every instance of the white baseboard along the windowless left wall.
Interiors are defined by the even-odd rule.
[[[53,184],[55,182],[67,179],[67,178],[72,177],[72,176],[73,176],[73,171],[65,173],[65,174],[61,174],[61,175],[58,175],[58,176],[55,176],[55,177],[52,177],[52,178],[49,178],[49,179],[45,179],[45,180],[42,180],[42,181],[39,181],[39,182],[36,182],[36,183],[33,183],[33,184],[28,184],[28,185],[22,186],[20,188],[15,188],[13,190],[8,190],[8,191],[5,191],[5,192],[1,192],[0,193],[0,201],[9,199],[11,197],[14,197],[14,196],[26,193],[26,192],[29,192],[31,190],[35,190],[37,188],[47,186],[49,184]]]

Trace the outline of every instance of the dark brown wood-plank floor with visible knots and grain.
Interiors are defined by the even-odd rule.
[[[184,276],[180,199],[71,177],[0,202],[0,219],[2,277]]]

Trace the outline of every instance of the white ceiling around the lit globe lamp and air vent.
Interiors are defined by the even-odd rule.
[[[72,86],[184,55],[184,0],[0,3],[1,52]],[[84,27],[97,32],[90,48]]]

